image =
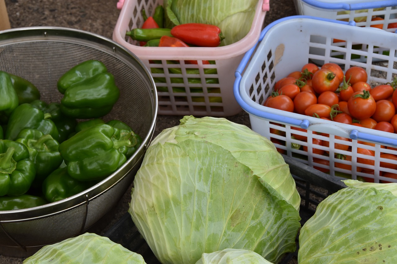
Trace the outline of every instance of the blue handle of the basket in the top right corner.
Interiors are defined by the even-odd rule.
[[[346,4],[346,3],[324,3],[318,0],[302,0],[306,4],[315,6],[317,8],[324,9],[344,9],[344,10],[361,10],[370,8],[385,8],[387,6],[397,6],[396,0],[385,0],[385,1],[372,1],[357,4]]]

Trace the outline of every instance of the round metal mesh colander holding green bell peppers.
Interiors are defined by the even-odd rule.
[[[0,211],[0,254],[30,256],[44,245],[92,227],[131,185],[157,116],[157,93],[150,73],[134,54],[116,42],[60,27],[0,33],[0,70],[31,81],[48,103],[62,98],[56,88],[57,80],[71,67],[89,59],[102,61],[120,89],[119,100],[104,121],[119,119],[129,124],[143,143],[121,168],[82,193],[40,207]]]

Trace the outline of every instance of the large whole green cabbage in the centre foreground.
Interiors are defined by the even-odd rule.
[[[270,140],[224,118],[186,116],[148,147],[129,213],[162,263],[247,249],[294,252],[300,197]]]

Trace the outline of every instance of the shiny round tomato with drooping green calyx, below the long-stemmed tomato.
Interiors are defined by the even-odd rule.
[[[375,113],[376,102],[368,91],[355,92],[347,101],[347,107],[352,117],[364,119]]]

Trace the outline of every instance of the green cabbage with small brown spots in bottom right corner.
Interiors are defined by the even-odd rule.
[[[299,264],[397,263],[397,184],[343,180],[299,235]]]

